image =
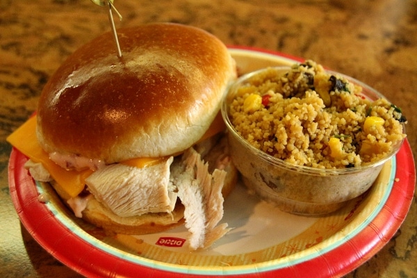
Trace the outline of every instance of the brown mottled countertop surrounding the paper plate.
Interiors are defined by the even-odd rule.
[[[178,22],[225,44],[311,58],[382,92],[408,119],[417,154],[416,0],[115,1],[117,28]],[[6,142],[35,111],[44,83],[63,60],[109,30],[106,8],[88,0],[0,0],[0,276],[76,277],[31,238],[8,191]],[[373,258],[346,277],[417,277],[416,195],[404,223]]]

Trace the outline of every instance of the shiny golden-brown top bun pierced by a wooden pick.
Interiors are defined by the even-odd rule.
[[[38,140],[46,152],[106,163],[175,154],[192,146],[236,78],[227,47],[199,28],[120,28],[76,50],[45,85]]]

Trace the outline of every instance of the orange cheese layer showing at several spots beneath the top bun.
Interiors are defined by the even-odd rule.
[[[224,128],[225,126],[219,113],[213,124],[211,124],[210,129],[206,131],[200,140],[211,137],[216,133],[223,131]],[[65,192],[67,195],[70,195],[70,197],[76,197],[81,193],[85,186],[85,179],[92,174],[92,170],[65,170],[63,167],[60,167],[49,159],[49,154],[44,152],[36,138],[36,116],[31,117],[15,132],[10,134],[6,140],[13,145],[13,147],[18,149],[19,152],[22,152],[22,154],[31,158],[32,161],[42,163],[49,174],[51,174],[51,177],[58,183],[58,185],[56,185],[56,190]],[[146,167],[159,163],[165,159],[167,159],[167,157],[133,158],[121,163],[134,167]]]

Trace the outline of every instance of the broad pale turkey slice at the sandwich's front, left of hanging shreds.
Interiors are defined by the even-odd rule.
[[[122,217],[170,213],[177,200],[177,193],[170,186],[173,159],[142,168],[106,165],[85,179],[85,183],[99,202]]]

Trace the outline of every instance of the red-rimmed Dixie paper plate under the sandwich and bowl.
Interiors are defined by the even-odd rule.
[[[295,60],[260,49],[231,47],[240,73]],[[224,202],[232,229],[209,250],[190,252],[184,227],[145,236],[106,235],[75,218],[47,183],[35,183],[27,158],[13,149],[10,195],[24,227],[56,259],[88,277],[334,277],[370,259],[395,234],[414,194],[416,174],[407,140],[366,193],[329,215],[284,213],[242,184]],[[48,202],[42,202],[47,197]]]

